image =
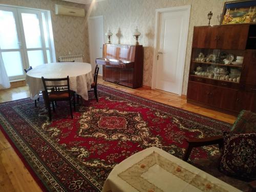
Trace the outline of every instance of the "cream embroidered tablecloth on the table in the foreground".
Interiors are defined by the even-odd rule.
[[[102,192],[237,192],[237,188],[157,147],[132,155],[114,167]]]

